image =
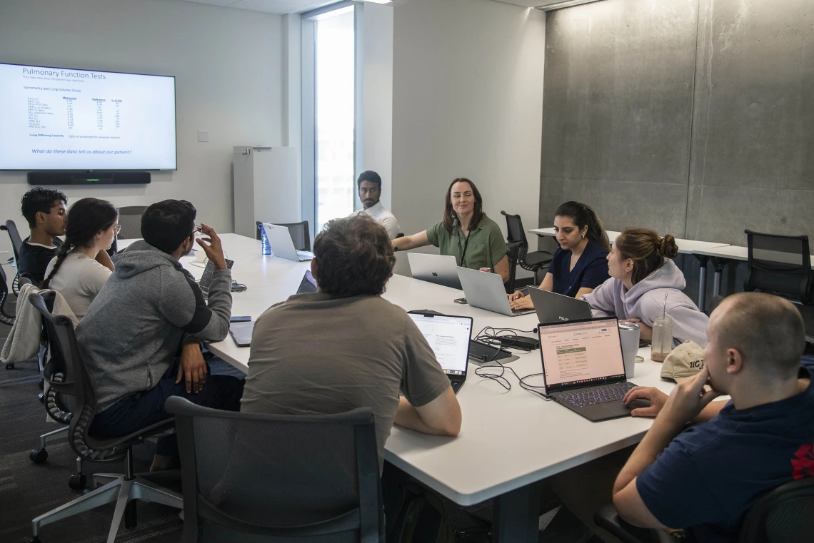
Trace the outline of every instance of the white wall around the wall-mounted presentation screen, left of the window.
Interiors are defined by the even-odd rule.
[[[181,0],[0,1],[0,62],[176,77],[177,171],[154,172],[150,185],[63,187],[68,203],[186,198],[221,232],[233,228],[232,146],[283,143],[283,39],[280,15]],[[25,224],[28,188],[25,172],[0,172],[2,221]]]

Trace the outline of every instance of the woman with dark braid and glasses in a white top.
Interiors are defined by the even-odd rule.
[[[121,229],[118,220],[116,206],[97,198],[82,198],[68,210],[65,242],[48,263],[41,287],[62,294],[77,319],[85,316],[113,272],[106,251]]]

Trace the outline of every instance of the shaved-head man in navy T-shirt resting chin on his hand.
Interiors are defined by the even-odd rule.
[[[684,528],[689,541],[736,541],[755,499],[814,475],[814,363],[800,357],[803,319],[765,293],[739,293],[710,317],[705,367],[663,400],[616,479],[619,515],[642,528]],[[705,389],[709,384],[711,389]],[[729,402],[710,403],[720,394]],[[634,413],[651,415],[651,412]],[[685,424],[697,424],[686,430]],[[682,430],[684,430],[682,432]]]

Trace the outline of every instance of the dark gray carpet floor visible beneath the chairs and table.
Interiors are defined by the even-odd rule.
[[[13,313],[14,301],[7,309]],[[8,336],[10,326],[0,324],[0,348]],[[239,371],[217,359],[210,362],[213,374],[242,375]],[[55,507],[70,502],[81,491],[68,487],[68,478],[76,469],[76,454],[64,439],[47,445],[45,463],[35,464],[28,454],[39,448],[42,433],[59,428],[59,424],[46,420],[46,411],[37,399],[40,379],[36,358],[16,364],[14,369],[0,367],[0,542],[22,543],[31,539],[31,519]],[[133,450],[137,472],[150,467],[154,445],[145,444]],[[92,473],[120,472],[120,463],[85,463],[88,486]],[[179,490],[179,489],[177,489]],[[446,501],[450,523],[456,530],[459,543],[488,543],[491,541],[488,523],[492,519],[492,502],[461,508]],[[557,507],[557,498],[544,492],[541,511]],[[107,532],[115,504],[98,507],[81,515],[59,520],[40,531],[42,543],[101,543]],[[549,528],[540,532],[541,543],[601,543],[591,538],[583,525],[567,510],[561,508]],[[487,527],[487,528],[484,528]],[[177,510],[167,506],[138,502],[138,526],[120,528],[119,543],[177,543],[181,539],[182,521]]]

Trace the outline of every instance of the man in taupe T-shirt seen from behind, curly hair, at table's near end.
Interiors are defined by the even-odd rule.
[[[313,252],[319,292],[291,296],[257,319],[240,411],[370,407],[379,466],[394,422],[456,436],[461,408],[449,379],[407,313],[380,296],[395,263],[387,231],[365,215],[335,219]]]

